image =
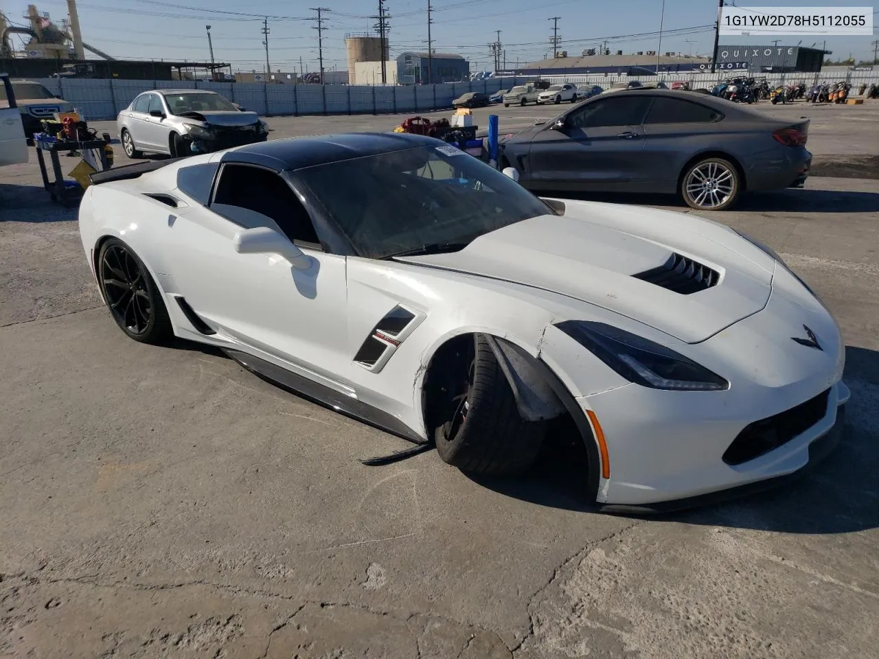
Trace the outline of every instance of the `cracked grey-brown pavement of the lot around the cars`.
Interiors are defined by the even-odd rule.
[[[812,117],[821,176],[705,216],[837,316],[845,435],[802,482],[663,518],[589,511],[551,455],[507,485],[435,453],[362,466],[403,442],[212,351],[124,337],[76,211],[33,156],[0,169],[0,655],[876,656],[879,103],[759,108]],[[556,108],[489,112],[507,132]],[[274,139],[404,118],[268,121]]]

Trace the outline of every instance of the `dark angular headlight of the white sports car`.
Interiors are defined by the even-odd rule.
[[[730,383],[665,345],[603,322],[556,323],[569,337],[630,382],[672,391],[723,391]]]

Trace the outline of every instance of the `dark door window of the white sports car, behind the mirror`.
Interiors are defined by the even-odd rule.
[[[287,181],[273,171],[249,165],[224,165],[213,204],[238,206],[265,215],[290,241],[320,246],[305,206]]]

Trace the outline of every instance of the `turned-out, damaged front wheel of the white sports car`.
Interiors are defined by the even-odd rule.
[[[519,415],[510,384],[483,335],[462,337],[440,391],[434,441],[447,464],[472,474],[512,476],[534,463],[545,422]]]

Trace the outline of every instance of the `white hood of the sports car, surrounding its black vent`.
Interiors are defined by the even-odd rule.
[[[730,228],[669,211],[563,203],[563,216],[517,222],[461,251],[400,260],[560,293],[691,344],[766,307],[774,258]],[[684,294],[635,277],[675,255],[711,268],[716,285]]]

